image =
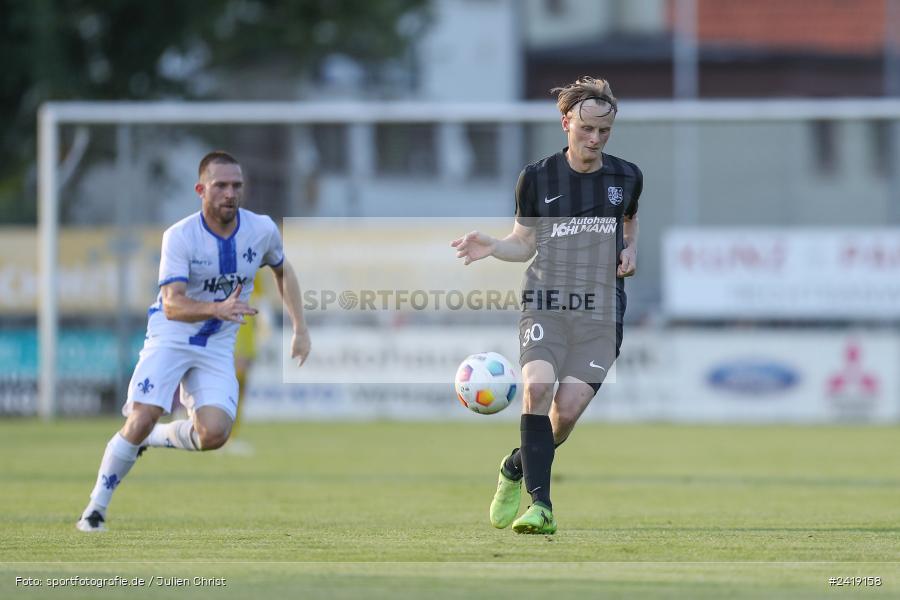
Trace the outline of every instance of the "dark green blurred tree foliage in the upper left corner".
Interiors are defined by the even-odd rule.
[[[425,10],[426,0],[0,0],[0,221],[33,215],[14,205],[34,202],[23,174],[44,101],[233,98],[241,90],[219,89],[218,76],[271,64],[300,76],[332,53],[376,66],[403,53]]]

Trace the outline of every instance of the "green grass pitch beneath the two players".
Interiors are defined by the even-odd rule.
[[[900,595],[897,428],[579,425],[545,537],[487,520],[514,422],[249,424],[252,457],[151,449],[84,535],[118,426],[0,422],[0,597]],[[115,575],[227,587],[46,584]]]

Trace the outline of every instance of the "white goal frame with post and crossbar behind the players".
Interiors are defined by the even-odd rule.
[[[336,108],[339,108],[339,114]],[[60,127],[63,125],[203,125],[317,123],[555,123],[552,102],[443,104],[423,102],[48,102],[38,112],[38,414],[56,414],[59,320],[57,253],[59,231]],[[827,119],[900,120],[900,99],[676,100],[623,103],[617,121],[692,123]],[[687,139],[695,136],[688,135]],[[690,144],[687,171],[696,166]],[[692,157],[691,155],[694,154]],[[691,162],[693,161],[693,162]],[[688,189],[691,189],[688,186]],[[677,191],[677,190],[676,190]],[[689,194],[687,195],[689,197]],[[677,202],[676,198],[676,202]],[[689,207],[688,207],[689,208]]]

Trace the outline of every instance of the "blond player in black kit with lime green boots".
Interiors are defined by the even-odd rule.
[[[600,389],[619,355],[624,278],[637,266],[637,165],[606,154],[617,103],[604,79],[555,88],[568,146],[522,170],[516,222],[497,239],[473,231],[454,240],[466,265],[493,256],[525,262],[519,362],[525,394],[521,446],[500,465],[491,524],[556,533],[550,501],[555,449]],[[556,383],[554,395],[554,387]],[[532,504],[519,512],[522,480]]]

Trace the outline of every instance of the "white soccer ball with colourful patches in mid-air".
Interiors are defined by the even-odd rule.
[[[518,375],[506,357],[481,352],[467,357],[456,370],[456,397],[463,406],[482,415],[500,412],[515,400]]]

